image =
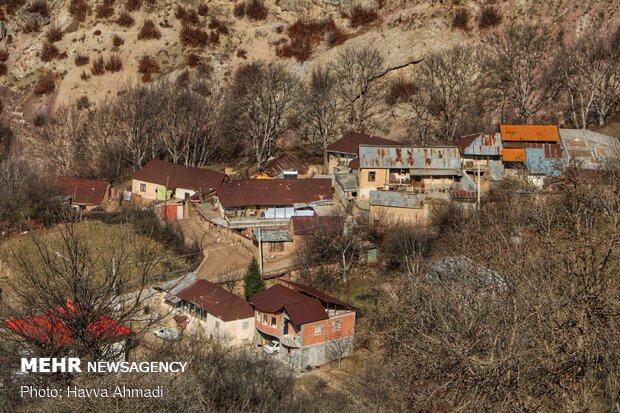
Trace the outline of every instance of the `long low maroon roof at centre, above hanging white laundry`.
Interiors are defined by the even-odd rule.
[[[224,208],[305,204],[333,199],[331,179],[243,179],[217,189]]]

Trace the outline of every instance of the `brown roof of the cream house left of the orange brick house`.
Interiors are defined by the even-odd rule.
[[[254,317],[254,310],[242,298],[207,280],[196,280],[177,297],[190,302],[222,321]]]

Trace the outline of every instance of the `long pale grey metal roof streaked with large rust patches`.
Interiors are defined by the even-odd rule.
[[[416,148],[406,146],[360,146],[360,168],[414,169],[455,172],[461,169],[456,146]]]

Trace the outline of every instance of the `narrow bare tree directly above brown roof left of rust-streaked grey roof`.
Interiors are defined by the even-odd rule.
[[[362,131],[380,102],[383,56],[371,46],[350,46],[338,54],[331,68],[347,123],[354,131]]]

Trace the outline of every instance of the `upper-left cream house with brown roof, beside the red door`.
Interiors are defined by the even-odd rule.
[[[225,179],[221,172],[155,159],[133,174],[131,192],[148,200],[188,200],[213,192]]]

